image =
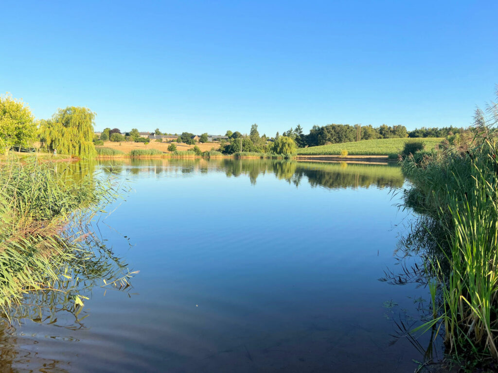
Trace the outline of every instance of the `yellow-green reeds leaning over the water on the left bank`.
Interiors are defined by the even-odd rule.
[[[95,262],[83,223],[117,197],[115,188],[92,172],[74,177],[74,165],[61,165],[34,159],[0,165],[0,308],[6,318],[27,294],[64,294],[81,306],[71,289],[103,263]]]

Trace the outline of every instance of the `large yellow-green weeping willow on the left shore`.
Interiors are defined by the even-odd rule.
[[[41,146],[58,154],[95,157],[93,144],[96,114],[87,107],[58,109],[51,119],[40,121]]]

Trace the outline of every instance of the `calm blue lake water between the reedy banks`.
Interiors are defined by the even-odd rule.
[[[124,291],[87,291],[79,322],[6,328],[1,372],[413,372],[422,360],[392,335],[426,290],[378,280],[411,219],[396,166],[90,167],[131,183],[96,231],[140,272]]]

